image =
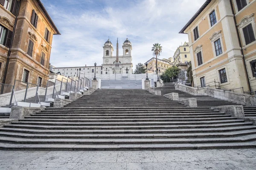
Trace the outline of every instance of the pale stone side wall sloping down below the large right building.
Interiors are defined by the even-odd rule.
[[[183,91],[192,95],[212,96],[218,99],[237,102],[242,105],[256,106],[256,96],[224,91],[215,88],[193,88],[187,85],[175,84],[175,90]]]

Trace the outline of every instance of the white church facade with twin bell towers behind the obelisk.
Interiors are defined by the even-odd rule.
[[[116,42],[116,56],[113,55],[113,44],[108,39],[103,46],[103,74],[132,74],[132,45],[128,38],[122,44],[122,56],[119,56],[118,39]]]

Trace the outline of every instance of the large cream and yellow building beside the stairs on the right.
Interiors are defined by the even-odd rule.
[[[182,28],[188,34],[195,86],[219,83],[255,91],[256,0],[207,0]]]

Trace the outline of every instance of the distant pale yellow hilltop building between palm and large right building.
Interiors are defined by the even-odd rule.
[[[173,57],[170,57],[169,60],[172,61],[172,64],[174,66],[187,64],[191,60],[189,52],[189,43],[184,42],[183,45],[179,46],[175,51]]]

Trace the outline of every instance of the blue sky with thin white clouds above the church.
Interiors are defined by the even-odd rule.
[[[172,57],[186,34],[178,34],[205,0],[41,0],[61,35],[52,42],[55,67],[102,64],[102,46],[110,37],[119,55],[126,36],[132,43],[134,67],[152,56],[154,43],[162,58]]]

